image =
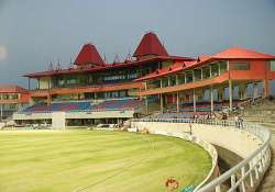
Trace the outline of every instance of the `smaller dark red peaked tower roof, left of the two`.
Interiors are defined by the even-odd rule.
[[[105,61],[100,57],[96,46],[92,44],[86,44],[82,46],[74,64],[76,65],[94,64],[97,66],[105,66]]]

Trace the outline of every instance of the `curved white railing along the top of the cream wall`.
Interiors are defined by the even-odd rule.
[[[133,122],[165,122],[165,123],[190,123],[190,124],[207,124],[218,126],[230,126],[235,128],[235,123],[230,121],[211,121],[211,120],[188,120],[188,118],[135,118]],[[248,188],[255,190],[265,171],[271,163],[270,140],[271,133],[268,128],[256,124],[241,123],[240,127],[249,133],[257,136],[263,144],[255,149],[248,158],[243,159],[237,166],[216,178],[211,182],[202,185],[197,192],[221,192],[221,187],[226,181],[230,180],[228,192],[234,192],[239,189],[242,192],[248,191]],[[240,146],[241,147],[241,146]],[[251,190],[250,190],[251,191]]]

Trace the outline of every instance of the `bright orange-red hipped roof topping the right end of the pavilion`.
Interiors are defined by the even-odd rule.
[[[224,59],[242,59],[242,58],[251,58],[251,59],[274,59],[274,55],[263,54],[260,52],[255,52],[252,49],[246,49],[242,47],[230,47],[223,52],[215,54],[211,56],[212,58],[224,58]]]

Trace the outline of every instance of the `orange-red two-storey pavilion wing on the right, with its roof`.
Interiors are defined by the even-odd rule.
[[[157,69],[135,81],[145,82],[141,97],[158,97],[163,113],[168,109],[180,112],[185,103],[191,103],[193,111],[197,112],[197,103],[206,103],[206,98],[211,112],[215,111],[215,103],[222,102],[228,103],[232,111],[235,100],[249,98],[249,83],[253,84],[252,98],[268,97],[273,79],[274,55],[231,47],[211,56],[201,55],[195,61],[176,63]],[[262,91],[258,84],[262,84]]]

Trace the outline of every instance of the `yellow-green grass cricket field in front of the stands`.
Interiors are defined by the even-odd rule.
[[[179,138],[99,131],[0,132],[1,192],[165,192],[200,183],[210,156]],[[180,191],[180,190],[178,190]]]

